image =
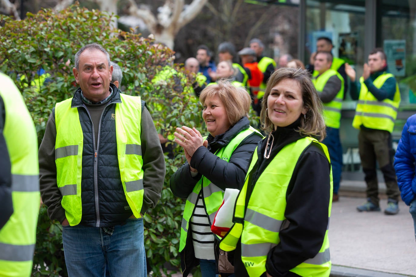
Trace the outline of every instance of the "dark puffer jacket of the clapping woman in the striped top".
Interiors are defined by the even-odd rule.
[[[236,135],[248,127],[250,127],[248,118],[243,117],[225,133],[215,137],[209,135],[207,138],[208,148],[199,147],[191,159],[191,166],[198,170],[198,175],[191,176],[189,164],[186,162],[171,177],[170,184],[173,195],[186,199],[202,176],[206,176],[222,190],[226,188],[241,189],[251,156],[262,137],[255,132],[246,137],[234,150],[229,162],[215,156],[214,153],[227,146]],[[218,257],[219,250],[218,243],[218,241],[214,243],[216,257]],[[186,246],[181,252],[183,276],[188,276],[192,268],[198,264],[199,261],[193,252],[191,235],[188,235]]]

